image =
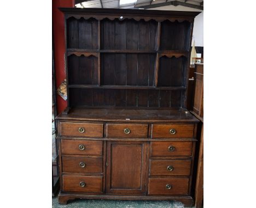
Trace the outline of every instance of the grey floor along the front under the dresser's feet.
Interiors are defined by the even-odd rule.
[[[53,208],[183,208],[178,201],[126,201],[126,200],[93,200],[75,199],[67,205],[58,204],[53,197]]]

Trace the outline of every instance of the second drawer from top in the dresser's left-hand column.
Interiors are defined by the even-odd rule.
[[[102,155],[102,141],[61,139],[61,153],[69,155]]]

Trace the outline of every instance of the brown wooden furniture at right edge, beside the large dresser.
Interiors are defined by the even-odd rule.
[[[191,113],[200,120],[197,131],[197,144],[195,154],[195,207],[203,204],[203,64],[195,64],[193,110]]]

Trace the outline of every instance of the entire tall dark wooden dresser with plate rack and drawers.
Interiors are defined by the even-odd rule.
[[[57,117],[59,203],[87,198],[192,205],[198,120],[186,103],[199,13],[61,11],[68,107]]]

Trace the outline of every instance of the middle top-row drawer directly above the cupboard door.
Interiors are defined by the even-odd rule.
[[[107,137],[148,137],[148,124],[107,124]]]

